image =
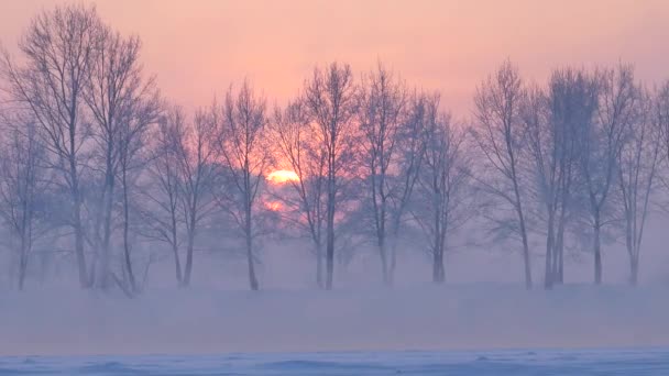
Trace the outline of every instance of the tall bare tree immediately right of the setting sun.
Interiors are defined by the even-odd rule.
[[[338,191],[352,159],[355,90],[351,68],[337,63],[314,69],[314,76],[305,82],[305,103],[317,126],[315,142],[326,152],[326,289],[332,288],[334,272]]]

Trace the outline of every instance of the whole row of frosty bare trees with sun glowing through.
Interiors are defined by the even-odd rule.
[[[263,241],[286,237],[309,244],[321,288],[360,244],[384,284],[407,251],[443,283],[463,232],[518,250],[528,288],[537,257],[542,285],[562,284],[569,252],[592,255],[600,284],[603,243],[623,240],[636,284],[666,189],[669,85],[648,88],[629,65],[536,85],[506,62],[468,121],[381,63],[317,66],[285,107],[244,80],[187,113],[144,71],[140,38],[95,8],[43,11],[18,47],[0,65],[0,214],[19,289],[54,255],[81,288],[133,296],[156,255],[188,286],[212,239],[243,255],[254,290]]]

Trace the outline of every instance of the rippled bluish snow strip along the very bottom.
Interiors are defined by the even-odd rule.
[[[0,357],[0,375],[668,375],[669,350]]]

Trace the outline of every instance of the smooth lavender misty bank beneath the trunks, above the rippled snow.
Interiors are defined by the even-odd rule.
[[[666,288],[468,285],[316,291],[155,289],[141,300],[4,295],[4,355],[668,345]]]

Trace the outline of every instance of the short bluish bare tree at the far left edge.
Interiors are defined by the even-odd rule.
[[[33,244],[51,228],[44,202],[51,173],[34,121],[21,113],[3,115],[1,121],[6,137],[0,148],[0,215],[18,254],[17,281],[22,290]]]

